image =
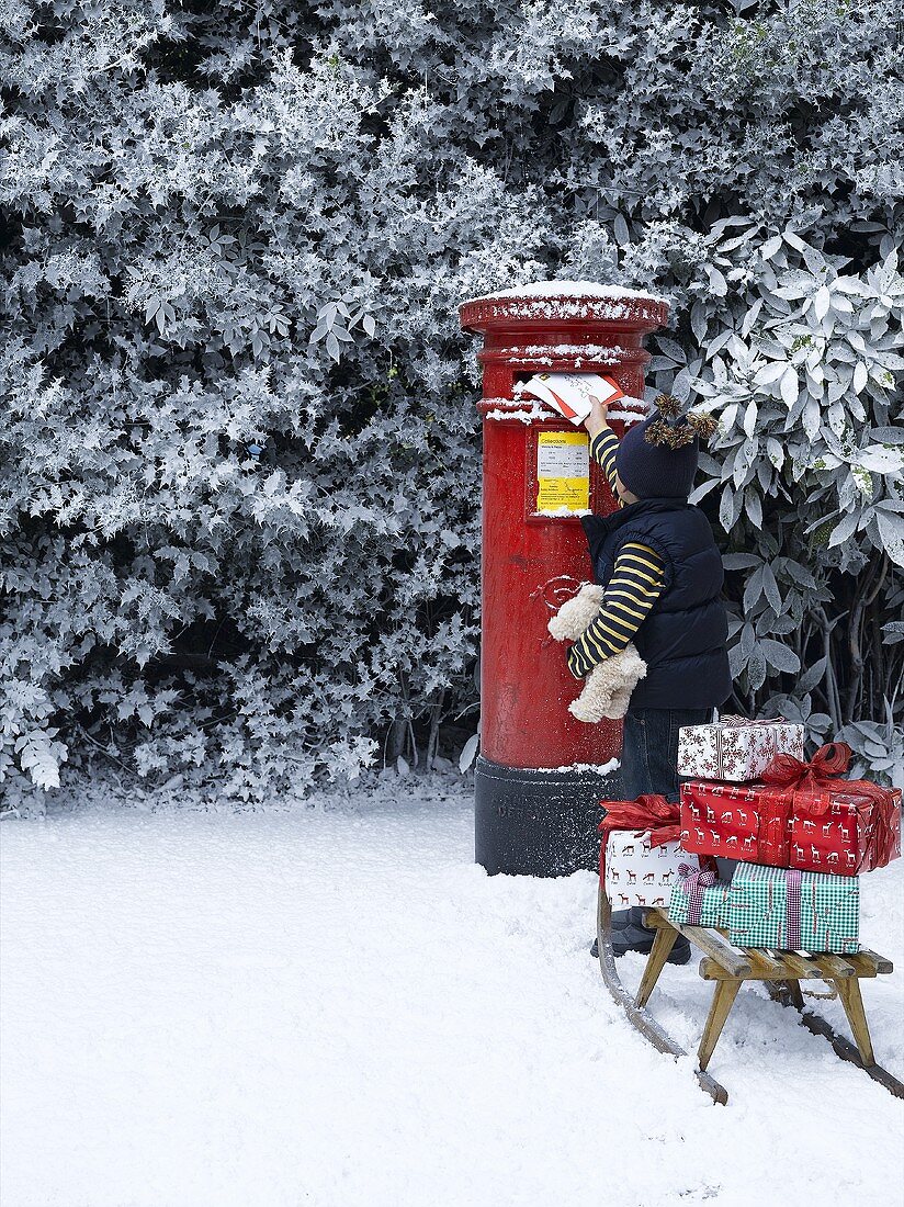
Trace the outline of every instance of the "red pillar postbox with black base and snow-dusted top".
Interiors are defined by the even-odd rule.
[[[599,801],[618,795],[620,722],[568,712],[581,686],[549,617],[593,578],[581,515],[614,509],[589,437],[521,392],[537,373],[599,373],[625,398],[612,426],[642,418],[643,337],[659,298],[581,281],[546,281],[460,307],[484,337],[483,619],[476,857],[490,873],[567,875],[594,868]],[[632,400],[634,404],[632,404]]]

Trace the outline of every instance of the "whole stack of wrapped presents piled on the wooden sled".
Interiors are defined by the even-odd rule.
[[[844,779],[850,760],[844,742],[805,760],[803,727],[781,719],[682,729],[680,805],[603,801],[612,908],[667,908],[740,947],[856,952],[859,877],[900,855],[902,793]]]

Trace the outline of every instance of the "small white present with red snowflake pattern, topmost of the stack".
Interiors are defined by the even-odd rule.
[[[678,730],[678,775],[747,783],[758,779],[776,754],[803,759],[803,725],[723,717],[712,725]]]

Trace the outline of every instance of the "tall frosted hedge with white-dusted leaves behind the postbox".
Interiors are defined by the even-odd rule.
[[[722,420],[737,707],[900,774],[897,6],[558,7],[0,2],[11,799],[454,753],[455,308],[553,275],[672,301],[652,384]]]

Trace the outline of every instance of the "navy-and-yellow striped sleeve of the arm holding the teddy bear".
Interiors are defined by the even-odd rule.
[[[583,678],[597,663],[624,649],[664,588],[665,566],[659,554],[636,541],[623,544],[599,613],[568,649],[571,674]]]

